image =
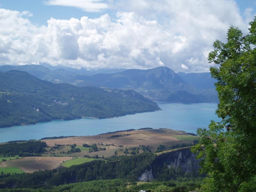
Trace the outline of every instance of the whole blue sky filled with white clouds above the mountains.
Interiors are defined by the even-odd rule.
[[[0,0],[0,65],[208,72],[213,42],[254,16],[256,0]]]

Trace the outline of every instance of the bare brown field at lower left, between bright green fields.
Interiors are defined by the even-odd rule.
[[[4,163],[3,167],[18,167],[24,172],[31,173],[38,170],[54,169],[69,159],[72,157],[24,157],[2,162],[2,164]]]

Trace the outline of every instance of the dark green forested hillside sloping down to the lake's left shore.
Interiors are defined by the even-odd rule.
[[[54,84],[15,70],[0,72],[0,106],[0,127],[160,110],[132,90]]]

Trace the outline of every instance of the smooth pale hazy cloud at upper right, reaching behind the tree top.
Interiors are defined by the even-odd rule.
[[[132,11],[143,15],[146,20],[157,20],[165,31],[176,36],[173,39],[172,54],[161,54],[164,64],[175,71],[182,70],[181,63],[191,71],[209,71],[207,61],[212,43],[216,39],[226,41],[226,33],[230,25],[238,26],[244,33],[248,30],[248,21],[252,20],[252,9],[245,11],[246,20],[239,13],[234,0],[120,0],[112,5],[117,10]],[[255,14],[255,12],[254,12]],[[190,63],[196,58],[197,63]]]

